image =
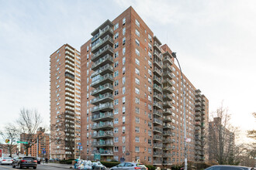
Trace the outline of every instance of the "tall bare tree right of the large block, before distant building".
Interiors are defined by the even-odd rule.
[[[221,104],[209,122],[209,158],[220,165],[234,164],[234,138],[238,130],[230,124],[230,116]]]

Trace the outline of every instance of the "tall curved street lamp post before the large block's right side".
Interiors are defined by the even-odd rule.
[[[173,56],[173,58],[175,58],[177,60],[177,63],[178,63],[176,53],[175,52],[171,53],[171,56]],[[185,170],[187,170],[188,169],[187,142],[185,141],[186,140],[186,134],[187,134],[186,133],[186,126],[185,126],[185,90],[184,90],[185,84],[184,84],[184,79],[183,79],[183,74],[182,74],[182,68],[179,65],[179,63],[178,63],[178,67],[179,67],[179,70],[181,70],[181,75],[182,75],[183,114],[184,114],[184,150],[185,150],[184,166],[185,166]]]

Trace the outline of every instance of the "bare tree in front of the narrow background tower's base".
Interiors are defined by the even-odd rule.
[[[57,124],[50,126],[50,142],[55,150],[65,151],[67,158],[74,158],[74,115],[71,112],[57,116]],[[54,152],[54,151],[53,151]]]

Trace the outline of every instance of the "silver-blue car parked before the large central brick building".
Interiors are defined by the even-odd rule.
[[[137,162],[122,162],[119,165],[113,166],[112,168],[110,168],[110,170],[147,170],[147,167],[141,163],[137,163]]]

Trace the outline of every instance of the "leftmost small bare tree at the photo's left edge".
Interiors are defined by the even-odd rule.
[[[5,141],[5,144],[2,145],[2,148],[7,149],[10,156],[12,157],[12,153],[16,152],[17,148],[16,140],[19,138],[19,132],[17,128],[13,124],[7,124],[5,126],[5,131],[0,131],[0,134],[2,141]]]

